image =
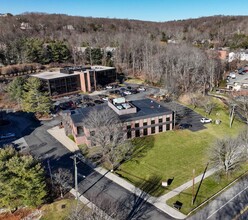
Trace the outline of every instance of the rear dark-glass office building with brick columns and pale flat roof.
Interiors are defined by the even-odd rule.
[[[33,74],[43,83],[43,89],[50,96],[61,96],[76,92],[93,92],[116,82],[117,73],[114,67],[89,66],[65,67],[60,71]]]

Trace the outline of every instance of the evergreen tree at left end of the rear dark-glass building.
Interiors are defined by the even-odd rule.
[[[51,100],[47,92],[42,92],[41,81],[30,77],[24,84],[23,109],[27,112],[48,114],[51,108]]]

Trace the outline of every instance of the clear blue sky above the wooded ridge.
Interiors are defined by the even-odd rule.
[[[163,22],[248,15],[248,0],[0,0],[0,13],[25,12]]]

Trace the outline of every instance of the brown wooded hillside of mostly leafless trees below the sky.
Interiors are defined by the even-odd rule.
[[[170,22],[41,13],[0,17],[0,63],[103,64],[173,91],[211,89],[223,66],[217,52],[206,49],[248,48],[247,24],[248,16]]]

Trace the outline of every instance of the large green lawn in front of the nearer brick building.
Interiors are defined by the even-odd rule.
[[[196,109],[205,115],[201,109]],[[242,124],[234,121],[229,128],[228,110],[218,103],[210,117],[221,119],[220,125],[207,124],[206,129],[168,131],[157,135],[134,139],[135,152],[132,158],[121,165],[117,173],[138,187],[149,182],[154,196],[166,193],[191,180],[192,170],[201,174],[208,162],[208,149],[217,138],[236,135]],[[161,181],[173,178],[168,189],[159,187]],[[155,187],[156,186],[156,187]]]

